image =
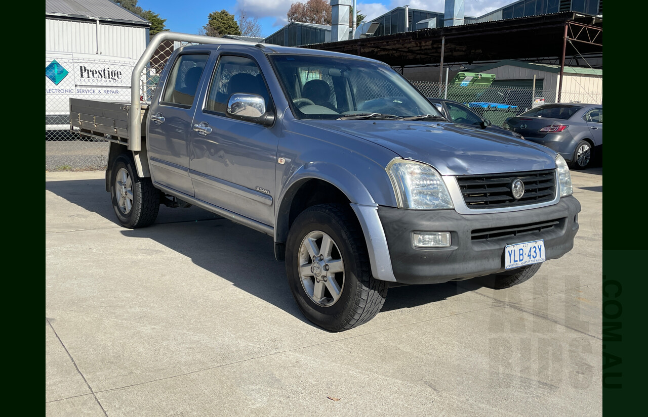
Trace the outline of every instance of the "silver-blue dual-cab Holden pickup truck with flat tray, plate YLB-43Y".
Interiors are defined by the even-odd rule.
[[[172,41],[191,45],[143,82]],[[130,103],[71,99],[70,114],[110,141],[122,226],[195,205],[272,236],[300,310],[330,331],[373,318],[389,286],[522,283],[579,227],[560,155],[448,122],[358,56],[161,32]]]

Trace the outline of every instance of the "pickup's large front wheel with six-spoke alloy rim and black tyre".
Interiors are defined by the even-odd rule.
[[[297,216],[286,242],[286,273],[299,310],[331,332],[367,323],[387,296],[387,284],[371,275],[358,220],[338,204]]]

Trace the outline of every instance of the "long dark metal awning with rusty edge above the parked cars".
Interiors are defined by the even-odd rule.
[[[566,32],[566,56],[593,53],[602,56],[603,19],[577,12],[422,29],[303,48],[364,56],[392,67],[472,64],[500,59],[561,59]]]

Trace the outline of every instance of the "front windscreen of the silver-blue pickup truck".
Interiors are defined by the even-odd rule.
[[[271,55],[270,60],[296,118],[441,116],[407,80],[382,63],[284,54]]]

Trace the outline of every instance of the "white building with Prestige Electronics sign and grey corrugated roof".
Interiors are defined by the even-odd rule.
[[[70,98],[130,99],[150,24],[110,0],[45,0],[46,138],[65,137]]]

